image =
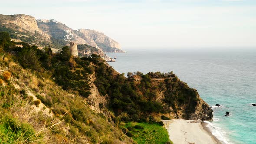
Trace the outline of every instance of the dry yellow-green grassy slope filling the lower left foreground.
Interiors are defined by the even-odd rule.
[[[4,53],[3,58],[3,53],[0,57],[0,77],[3,79],[3,72],[8,71],[11,78],[0,85],[0,129],[9,133],[0,135],[1,142],[27,142],[27,137],[20,137],[27,130],[20,127],[25,124],[35,131],[31,133],[35,137],[30,140],[33,143],[131,143],[115,124],[92,111],[82,97],[57,86],[49,79],[49,73],[23,69],[13,62],[11,55]],[[43,97],[45,105],[41,103],[36,107],[36,97]],[[7,117],[14,122],[2,121]]]

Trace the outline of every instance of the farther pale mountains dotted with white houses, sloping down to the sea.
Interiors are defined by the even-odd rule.
[[[78,44],[87,44],[102,49],[104,52],[114,52],[114,49],[121,50],[121,46],[113,39],[94,30],[73,30],[56,20],[37,20],[37,24],[39,29],[42,29],[45,33],[48,33],[55,39],[62,39],[67,42]]]

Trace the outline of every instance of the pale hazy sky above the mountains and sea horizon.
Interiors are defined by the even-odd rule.
[[[1,14],[95,29],[132,47],[256,47],[256,0],[1,0]]]

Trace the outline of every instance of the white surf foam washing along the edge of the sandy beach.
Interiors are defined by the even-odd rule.
[[[205,123],[207,123],[206,127],[210,129],[211,133],[221,142],[223,142],[224,144],[229,144],[226,141],[226,138],[224,138],[223,135],[226,134],[225,131],[223,131],[221,128],[213,126],[213,124],[209,121],[203,121]]]

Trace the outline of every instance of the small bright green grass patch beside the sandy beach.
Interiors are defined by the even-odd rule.
[[[139,125],[144,129],[136,129],[134,128],[135,125]],[[129,131],[133,134],[132,139],[138,144],[165,144],[167,141],[170,141],[167,130],[159,124],[148,124],[145,122],[126,123],[125,128],[130,129],[129,127],[132,128],[131,131]]]

